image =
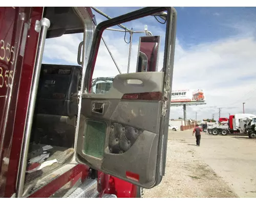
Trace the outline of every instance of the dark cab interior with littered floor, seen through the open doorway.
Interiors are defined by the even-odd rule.
[[[47,38],[83,32],[83,23],[71,7],[47,7],[44,17],[51,21]],[[46,40],[47,43],[47,40]],[[69,162],[74,153],[80,65],[42,64],[32,133],[27,158],[25,189]],[[38,169],[42,162],[51,165]]]

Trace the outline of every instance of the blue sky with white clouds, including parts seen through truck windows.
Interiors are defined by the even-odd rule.
[[[141,7],[97,7],[111,17]],[[172,89],[204,89],[206,105],[187,106],[187,118],[228,117],[228,114],[256,114],[256,8],[175,7],[177,35]],[[94,12],[97,23],[106,20]],[[161,19],[160,19],[161,20]],[[166,24],[152,16],[123,23],[128,29],[161,36],[158,70],[162,67]],[[118,27],[115,27],[120,29]],[[136,71],[139,37],[134,34],[130,72]],[[105,31],[103,37],[121,69],[127,72],[129,34]],[[82,34],[47,39],[43,63],[77,65],[77,49]],[[119,72],[101,43],[93,78],[115,77]],[[171,107],[170,118],[183,117],[182,107]]]

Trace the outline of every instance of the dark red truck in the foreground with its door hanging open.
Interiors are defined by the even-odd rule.
[[[103,31],[161,12],[163,71],[119,74],[108,94],[89,93]],[[0,26],[0,197],[140,197],[161,182],[174,8],[146,7],[96,25],[90,7],[1,7]],[[46,39],[77,33],[77,65],[42,64]],[[124,83],[130,79],[146,86]]]

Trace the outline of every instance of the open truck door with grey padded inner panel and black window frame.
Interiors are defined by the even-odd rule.
[[[162,72],[118,74],[104,94],[88,93],[105,29],[141,17],[165,13]],[[176,11],[147,7],[99,23],[87,69],[82,75],[76,127],[75,160],[143,188],[164,175],[172,91]]]

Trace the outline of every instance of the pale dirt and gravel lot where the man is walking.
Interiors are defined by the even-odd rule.
[[[169,131],[165,176],[143,197],[256,197],[256,140]]]

